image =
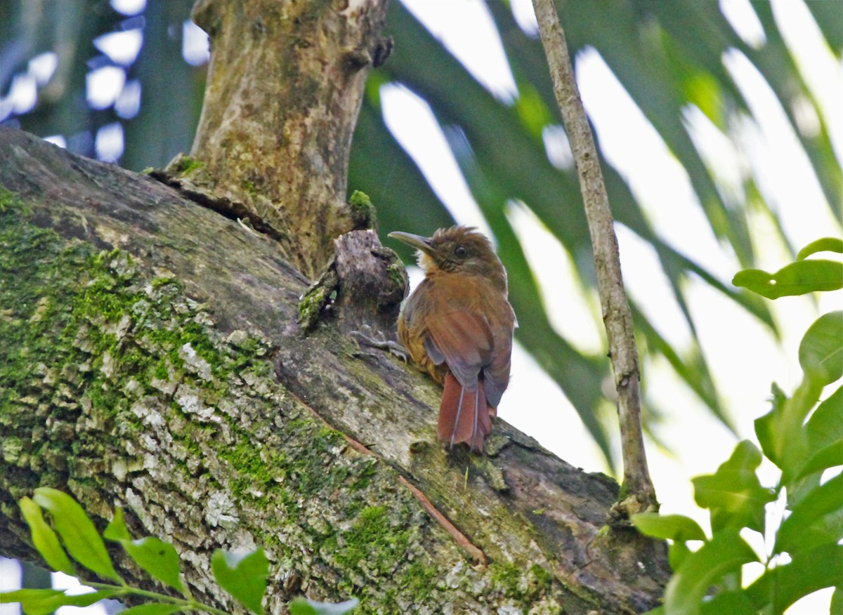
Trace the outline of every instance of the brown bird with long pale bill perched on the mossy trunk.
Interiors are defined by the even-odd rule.
[[[398,337],[412,361],[444,385],[439,438],[481,451],[509,383],[515,313],[507,271],[474,228],[389,237],[418,249],[425,272],[401,310]]]

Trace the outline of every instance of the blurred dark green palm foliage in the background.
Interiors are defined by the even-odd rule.
[[[163,167],[176,153],[190,151],[207,67],[207,44],[189,22],[191,4],[153,0],[140,3],[137,14],[126,14],[118,10],[122,5],[117,0],[2,0],[0,122],[133,170]],[[723,189],[688,130],[689,110],[701,111],[727,139],[737,138],[734,128],[739,121],[754,120],[754,109],[724,67],[727,53],[749,60],[776,94],[832,216],[841,222],[843,175],[830,139],[829,110],[821,108],[808,87],[769,3],[752,3],[764,29],[762,45],[745,42],[715,2],[557,4],[572,57],[587,49],[602,56],[685,168],[711,227],[706,232],[713,232],[741,266],[754,266],[757,256],[750,211],[769,217],[793,254],[801,246],[791,245],[776,222],[779,213],[765,201],[754,174],[741,175],[742,190],[736,198]],[[600,353],[578,348],[551,324],[510,215],[513,203],[529,208],[571,255],[583,291],[594,286],[576,172],[571,164],[551,162],[548,155],[548,136],[559,135],[561,120],[545,57],[537,37],[519,27],[509,3],[493,1],[488,8],[517,83],[513,99],[491,94],[404,5],[392,0],[388,33],[395,39],[395,51],[370,77],[353,143],[349,188],[372,198],[384,235],[394,229],[426,233],[453,223],[416,163],[385,126],[380,88],[400,83],[427,101],[497,240],[518,314],[518,341],[571,400],[611,464],[609,433],[615,430],[615,420],[614,404],[605,394],[608,361]],[[841,4],[808,2],[808,9],[839,61]],[[102,94],[97,83],[111,83],[110,94]],[[802,120],[806,113],[815,120],[810,130]],[[605,159],[603,163],[616,219],[658,254],[693,334],[684,284],[690,277],[705,281],[778,334],[765,303],[733,288],[705,262],[690,259],[669,243],[655,230],[628,179]],[[818,229],[818,237],[821,234]],[[411,260],[409,252],[402,256]],[[641,306],[632,302],[632,309],[642,355],[666,359],[711,414],[731,426],[698,341],[671,345]],[[646,387],[646,378],[643,383]],[[648,398],[646,388],[644,393],[647,428],[658,422],[663,409]]]

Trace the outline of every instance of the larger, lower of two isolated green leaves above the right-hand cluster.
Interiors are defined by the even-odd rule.
[[[797,260],[773,274],[760,269],[745,269],[735,274],[732,283],[768,299],[814,291],[836,291],[843,288],[843,263],[822,259]]]

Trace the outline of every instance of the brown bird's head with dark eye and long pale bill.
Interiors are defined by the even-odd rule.
[[[491,281],[502,292],[507,291],[507,272],[501,259],[485,235],[473,227],[440,228],[432,237],[411,233],[389,233],[418,249],[419,266],[427,276],[439,271],[463,275],[479,275]]]

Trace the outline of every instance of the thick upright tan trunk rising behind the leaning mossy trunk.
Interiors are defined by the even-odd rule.
[[[211,38],[191,156],[217,197],[270,227],[315,278],[331,242],[359,227],[346,203],[352,133],[368,69],[389,54],[386,0],[199,0]]]

